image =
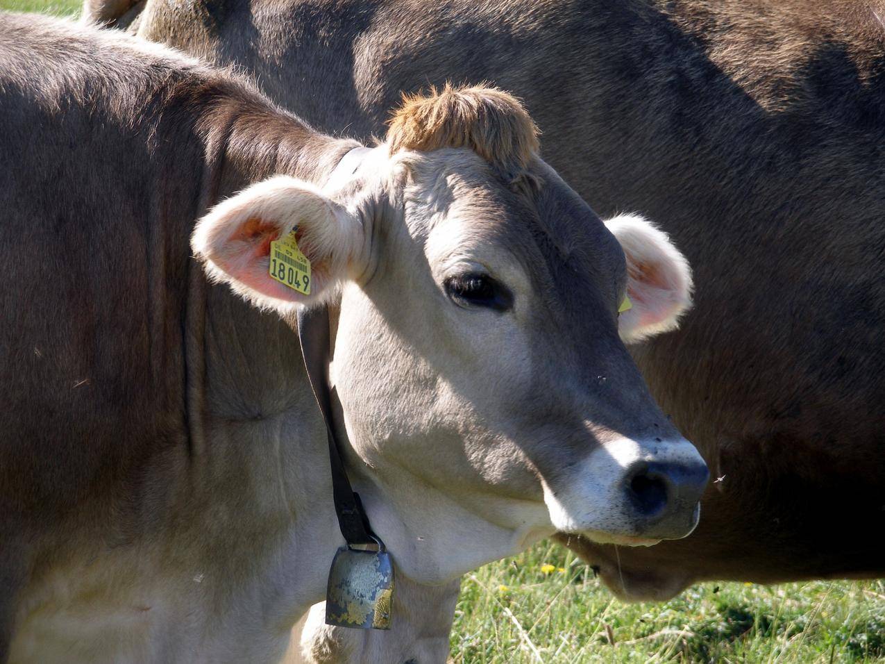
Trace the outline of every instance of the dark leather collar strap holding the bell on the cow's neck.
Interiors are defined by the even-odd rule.
[[[329,319],[325,306],[301,308],[298,310],[298,341],[304,356],[304,368],[311,382],[313,396],[326,422],[326,435],[329,445],[329,462],[332,469],[332,498],[338,527],[348,545],[378,544],[381,551],[384,544],[372,531],[366,510],[359,494],[350,486],[347,472],[339,452],[332,421],[332,395],[329,390],[327,370],[329,366]]]

